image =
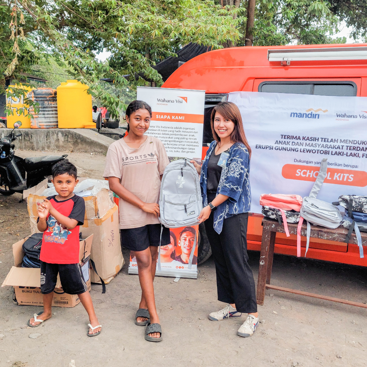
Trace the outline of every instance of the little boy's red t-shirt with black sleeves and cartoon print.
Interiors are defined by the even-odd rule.
[[[79,226],[84,223],[85,203],[83,197],[74,195],[58,201],[47,197],[60,214],[78,221],[73,229],[67,229],[48,214],[47,229],[43,232],[40,260],[49,264],[76,264],[79,262]],[[39,218],[37,219],[37,222]]]

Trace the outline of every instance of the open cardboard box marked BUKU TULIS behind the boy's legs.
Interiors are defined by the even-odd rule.
[[[14,243],[13,255],[14,265],[6,276],[1,287],[14,287],[15,298],[18,305],[42,306],[43,298],[41,294],[41,270],[39,268],[21,268],[24,252],[22,249],[23,243],[27,237]],[[87,277],[86,284],[88,291],[91,289],[90,270],[89,270],[89,255],[92,247],[93,235],[80,241],[79,264],[83,270],[83,276]],[[57,283],[54,289],[54,299],[52,306],[58,307],[74,307],[80,302],[77,294],[66,294],[61,287],[60,277],[57,276]]]

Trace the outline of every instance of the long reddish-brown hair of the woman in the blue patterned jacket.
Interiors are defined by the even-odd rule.
[[[235,103],[233,102],[220,102],[215,106],[211,112],[210,116],[210,125],[211,125],[211,131],[213,134],[213,138],[217,143],[221,140],[218,136],[218,134],[214,130],[214,117],[215,112],[218,112],[220,115],[222,115],[225,119],[233,121],[235,124],[235,128],[232,131],[232,134],[230,136],[230,141],[232,143],[243,143],[247,150],[248,155],[251,158],[251,148],[248,144],[245,131],[243,130],[243,124],[242,124],[242,117],[239,108]]]

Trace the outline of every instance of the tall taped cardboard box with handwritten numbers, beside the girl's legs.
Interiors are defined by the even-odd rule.
[[[110,209],[102,218],[87,219],[80,227],[83,237],[93,233],[91,259],[94,261],[98,275],[105,283],[109,283],[125,264],[121,252],[119,210],[117,205]],[[91,282],[101,280],[91,269]]]

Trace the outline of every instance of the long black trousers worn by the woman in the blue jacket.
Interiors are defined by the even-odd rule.
[[[214,197],[209,194],[208,202]],[[224,219],[220,235],[213,228],[213,214],[204,225],[217,272],[218,301],[236,304],[238,312],[257,312],[254,275],[247,263],[248,213]]]

